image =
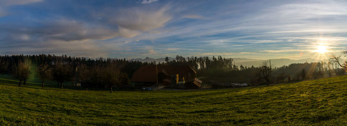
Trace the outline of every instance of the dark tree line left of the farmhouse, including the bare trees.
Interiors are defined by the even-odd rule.
[[[42,87],[49,79],[56,81],[60,88],[63,88],[64,82],[73,81],[77,76],[79,82],[87,82],[89,86],[96,88],[110,88],[111,92],[112,87],[129,84],[129,77],[141,65],[153,63],[111,58],[92,60],[45,54],[0,56],[0,73],[12,74],[19,80],[19,86],[22,82],[25,85],[29,74],[39,76]]]

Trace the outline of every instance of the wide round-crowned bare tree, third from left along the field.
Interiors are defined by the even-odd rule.
[[[62,89],[62,83],[72,78],[73,72],[72,67],[69,63],[63,63],[57,61],[52,69],[52,79],[60,83]]]

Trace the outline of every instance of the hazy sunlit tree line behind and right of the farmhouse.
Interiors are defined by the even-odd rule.
[[[282,83],[290,81],[299,81],[306,79],[315,79],[344,75],[347,67],[346,61],[341,57],[347,56],[347,50],[342,55],[330,56],[327,62],[317,63],[292,63],[280,67],[270,66],[269,61],[264,61],[259,66],[240,66],[235,65],[233,59],[218,57],[187,57],[176,56],[175,60],[169,60],[166,57],[166,63],[163,65],[189,65],[197,71],[204,83],[210,80],[231,82],[231,83],[249,83],[253,85]]]

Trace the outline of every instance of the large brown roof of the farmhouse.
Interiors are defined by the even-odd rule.
[[[158,65],[158,73],[164,73],[167,76],[170,74],[185,75],[188,72],[195,77],[196,71],[189,65]],[[131,78],[134,82],[156,82],[156,66],[144,65],[134,72]]]

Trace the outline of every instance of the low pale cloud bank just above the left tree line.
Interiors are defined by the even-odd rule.
[[[35,43],[15,43],[11,45],[0,46],[0,54],[6,55],[19,55],[19,54],[54,54],[54,55],[68,55],[77,57],[107,57],[109,52],[105,48],[101,48],[98,43],[93,41],[45,41]]]

